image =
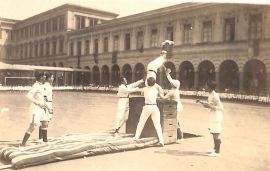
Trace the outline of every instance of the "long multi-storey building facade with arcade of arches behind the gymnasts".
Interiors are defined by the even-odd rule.
[[[181,89],[200,90],[215,80],[219,91],[270,93],[269,5],[185,3],[117,18],[66,4],[12,22],[4,32],[10,36],[0,29],[2,62],[89,69],[76,74],[76,84],[141,79],[161,43],[172,40],[165,66]],[[64,79],[73,84],[70,75]],[[157,82],[169,86],[162,69]]]

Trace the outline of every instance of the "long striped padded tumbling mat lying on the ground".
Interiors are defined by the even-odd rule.
[[[114,137],[108,132],[69,134],[50,139],[48,145],[33,140],[28,141],[25,152],[18,149],[20,142],[0,141],[1,157],[10,161],[10,167],[15,169],[150,147],[156,144],[158,139],[151,137],[134,140],[131,134],[120,134]]]

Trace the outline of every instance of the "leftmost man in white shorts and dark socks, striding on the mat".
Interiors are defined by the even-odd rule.
[[[45,83],[45,73],[42,71],[35,71],[36,82],[33,84],[31,90],[27,94],[27,99],[30,100],[30,126],[28,127],[26,133],[24,134],[21,145],[19,146],[19,150],[24,151],[24,147],[26,145],[27,140],[29,139],[31,133],[35,130],[35,127],[40,124],[42,127],[43,141],[48,142],[47,139],[47,126],[48,126],[48,118],[45,114],[44,108],[46,107],[44,100],[44,83]]]

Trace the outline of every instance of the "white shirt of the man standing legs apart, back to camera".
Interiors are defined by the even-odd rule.
[[[163,89],[158,84],[155,84],[154,86],[144,87],[143,94],[145,104],[157,104],[157,96],[163,94]]]

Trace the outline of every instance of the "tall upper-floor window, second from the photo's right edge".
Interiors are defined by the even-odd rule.
[[[226,18],[224,22],[224,40],[235,40],[235,18]]]

